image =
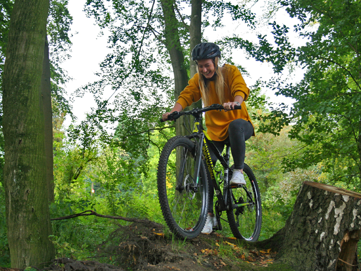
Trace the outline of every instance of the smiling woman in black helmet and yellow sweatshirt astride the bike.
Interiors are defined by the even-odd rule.
[[[189,80],[188,86],[181,92],[173,109],[162,115],[163,120],[174,111],[182,111],[192,103],[202,98],[204,106],[221,104],[224,111],[209,111],[205,113],[207,133],[220,153],[224,145],[229,142],[235,163],[230,185],[246,184],[243,177],[244,158],[246,152],[245,141],[254,135],[254,128],[247,112],[244,101],[249,95],[249,88],[243,80],[241,72],[234,65],[218,66],[221,52],[215,43],[202,42],[192,51],[192,60],[197,64],[198,72]],[[233,110],[235,105],[242,105],[241,110]],[[218,160],[210,150],[213,164]],[[208,168],[208,167],[206,167]],[[213,215],[213,183],[207,170],[210,186],[210,202],[207,220],[202,233],[212,233],[217,226]]]

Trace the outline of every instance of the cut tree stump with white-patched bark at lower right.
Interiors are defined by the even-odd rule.
[[[260,243],[295,270],[356,271],[360,216],[360,193],[304,182],[285,227]]]

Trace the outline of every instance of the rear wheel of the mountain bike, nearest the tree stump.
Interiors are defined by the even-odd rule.
[[[262,225],[261,195],[254,174],[246,164],[243,175],[246,185],[229,189],[233,208],[227,211],[227,218],[236,238],[255,242],[260,236]]]

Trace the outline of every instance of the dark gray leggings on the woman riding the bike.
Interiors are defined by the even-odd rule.
[[[242,118],[238,118],[230,122],[228,126],[228,137],[223,141],[213,141],[216,145],[218,151],[222,153],[224,149],[224,145],[229,141],[230,151],[232,153],[233,160],[235,162],[236,169],[244,168],[244,157],[246,154],[246,140],[249,139],[253,135],[254,129],[251,122],[244,120]],[[211,148],[209,148],[212,163],[213,165],[217,162],[218,158],[213,153]],[[211,175],[208,171],[208,167],[205,167],[207,171],[208,177],[208,185],[210,190],[210,201],[208,205],[208,212],[213,213],[213,195],[214,188],[211,179]]]

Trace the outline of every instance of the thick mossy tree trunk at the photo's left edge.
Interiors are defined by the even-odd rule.
[[[3,73],[4,186],[11,266],[54,257],[40,92],[49,0],[16,0]]]

